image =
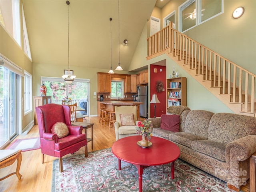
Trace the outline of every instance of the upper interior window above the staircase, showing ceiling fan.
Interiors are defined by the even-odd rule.
[[[223,0],[187,0],[179,6],[179,31],[186,32],[223,13]]]

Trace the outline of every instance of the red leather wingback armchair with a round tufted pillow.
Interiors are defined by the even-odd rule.
[[[36,107],[38,129],[40,135],[42,163],[44,154],[58,157],[60,172],[63,172],[62,157],[78,151],[84,146],[85,157],[88,156],[86,134],[82,134],[82,126],[72,126],[70,121],[70,107],[58,104],[46,104]],[[68,129],[68,136],[58,138],[52,134],[52,126],[56,122],[64,122]]]

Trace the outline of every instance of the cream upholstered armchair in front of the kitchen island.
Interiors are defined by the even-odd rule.
[[[138,124],[137,106],[115,106],[115,112],[116,122],[114,123],[114,127],[116,132],[116,140],[128,136],[138,135],[136,133],[136,127]],[[133,118],[131,114],[133,114]],[[127,120],[130,120],[130,122],[128,122]],[[132,120],[134,121],[134,125],[125,125],[132,124]]]

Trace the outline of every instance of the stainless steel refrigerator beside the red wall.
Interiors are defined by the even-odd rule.
[[[148,86],[140,86],[138,90],[140,104],[140,117],[148,118]]]

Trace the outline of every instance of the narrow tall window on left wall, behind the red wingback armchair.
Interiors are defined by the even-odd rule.
[[[24,70],[24,115],[32,111],[32,75]]]

